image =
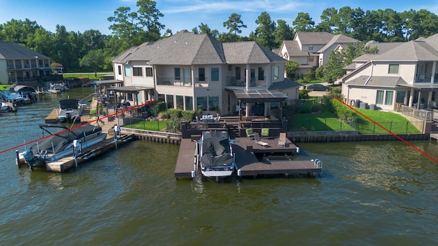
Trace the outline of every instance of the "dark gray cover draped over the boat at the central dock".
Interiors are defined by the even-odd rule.
[[[233,164],[227,132],[205,132],[202,140],[201,167],[223,168],[230,167]]]

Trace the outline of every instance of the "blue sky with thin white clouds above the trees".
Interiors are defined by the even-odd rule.
[[[299,12],[308,13],[315,24],[320,23],[320,15],[326,8],[361,8],[366,10],[385,10],[390,8],[396,12],[404,10],[425,9],[438,15],[438,1],[423,0],[156,0],[156,8],[164,14],[159,22],[166,29],[177,33],[186,29],[191,31],[201,23],[210,29],[227,32],[223,23],[231,14],[240,14],[247,28],[242,28],[241,36],[249,36],[257,27],[255,20],[261,12],[267,12],[271,20],[285,20],[287,25]],[[111,34],[108,29],[112,23],[107,18],[114,16],[119,7],[129,7],[131,12],[138,10],[137,0],[0,0],[0,24],[5,24],[12,18],[31,21],[44,29],[55,33],[56,25],[64,25],[67,31],[83,33],[86,30],[99,30],[103,34]]]

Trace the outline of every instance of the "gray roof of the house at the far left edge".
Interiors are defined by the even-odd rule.
[[[0,59],[49,59],[36,51],[15,42],[0,41]]]

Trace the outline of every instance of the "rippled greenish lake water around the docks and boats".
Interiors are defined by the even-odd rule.
[[[0,151],[42,135],[51,95],[0,115]],[[413,141],[438,159],[436,141]],[[436,245],[438,164],[401,141],[301,143],[321,178],[175,180],[179,146],[134,141],[54,174],[0,154],[0,245]],[[19,149],[20,151],[23,148]]]

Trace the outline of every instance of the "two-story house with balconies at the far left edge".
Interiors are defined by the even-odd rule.
[[[49,57],[14,42],[0,41],[0,83],[36,83],[51,74]]]

